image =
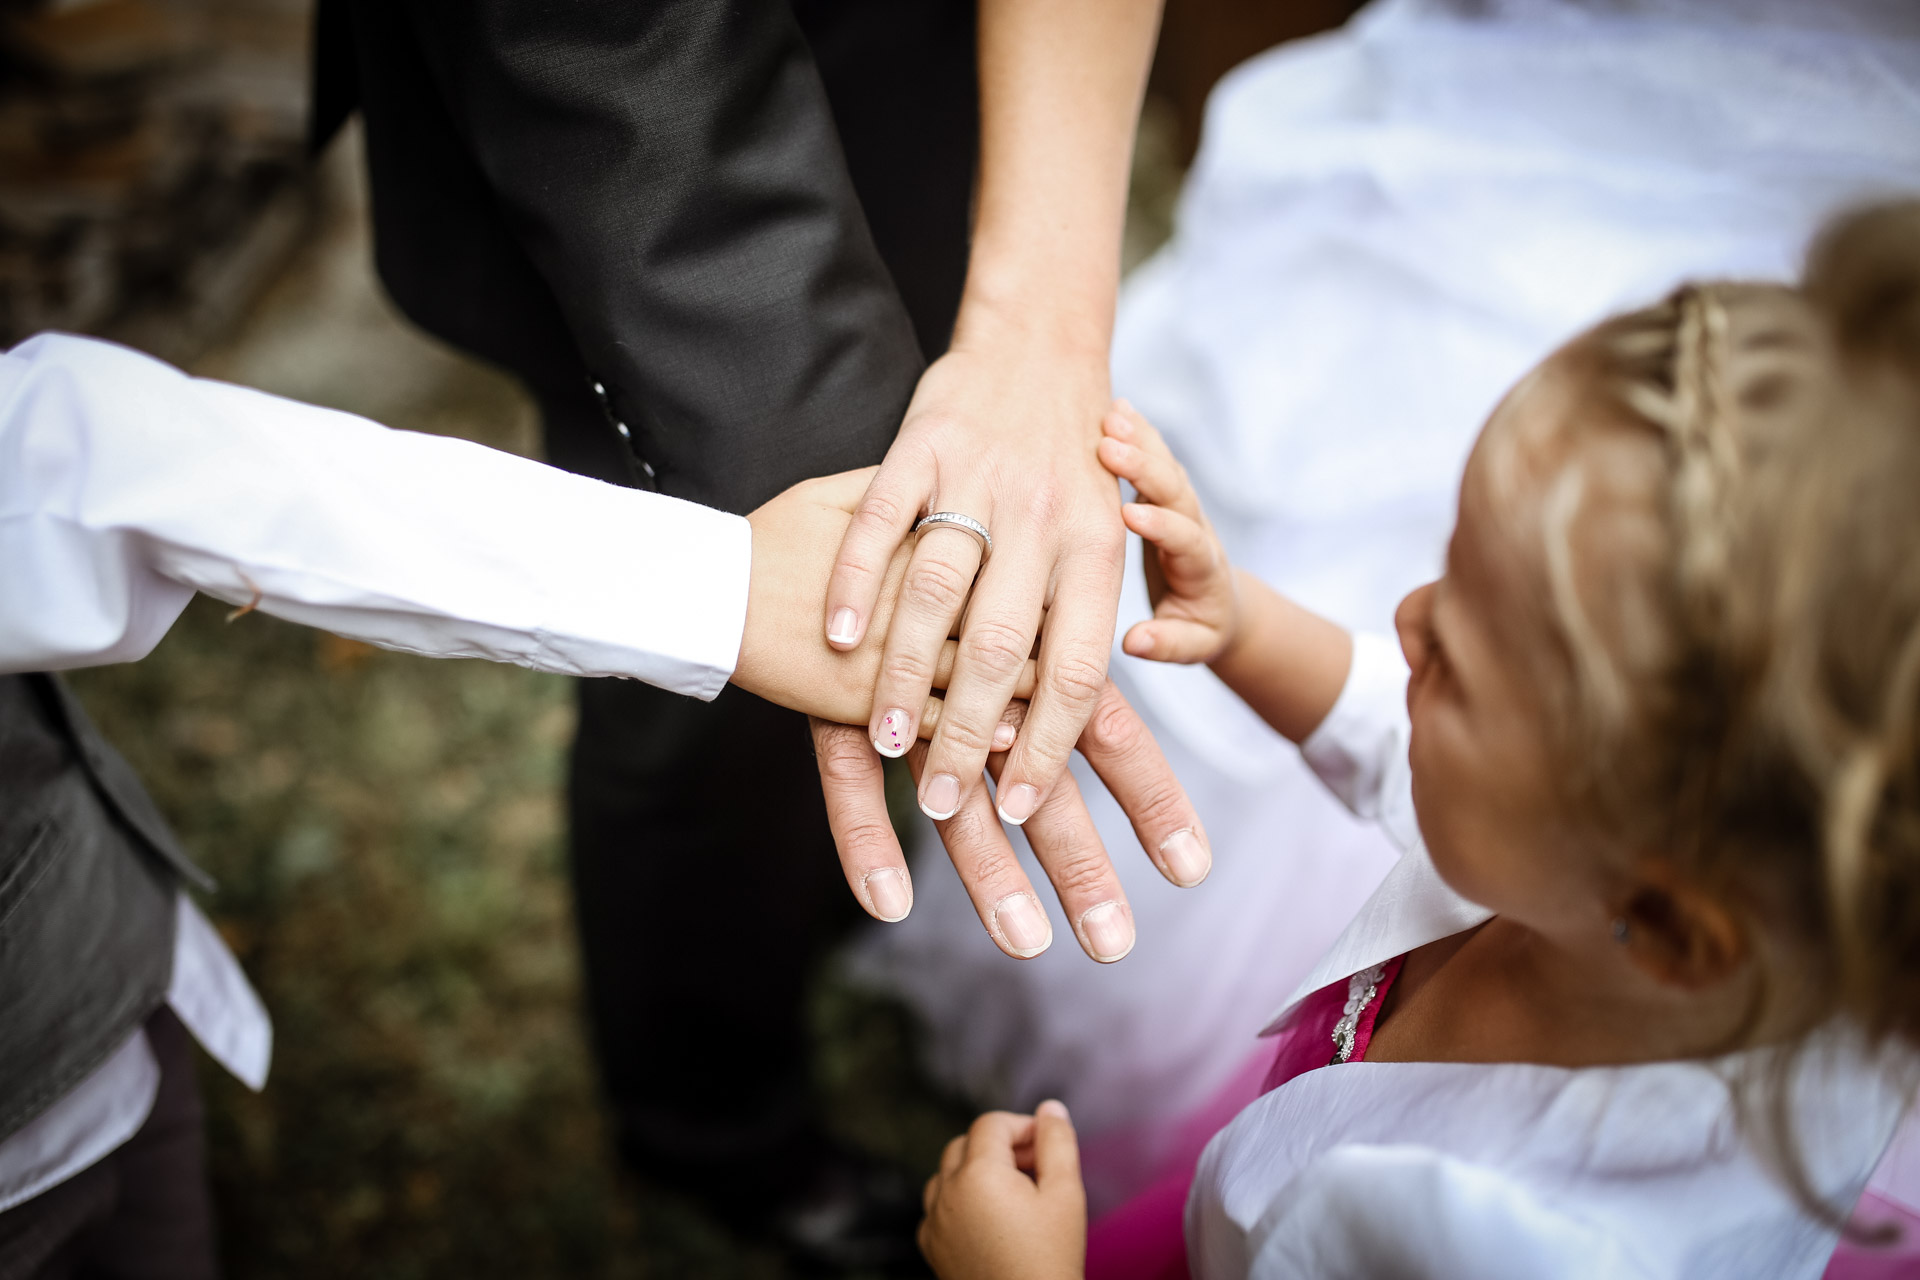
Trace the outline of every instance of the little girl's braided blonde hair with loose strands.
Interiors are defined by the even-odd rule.
[[[1569,804],[1791,956],[1741,1034],[1764,1002],[1920,1046],[1920,203],[1839,219],[1799,288],[1692,284],[1555,368]]]

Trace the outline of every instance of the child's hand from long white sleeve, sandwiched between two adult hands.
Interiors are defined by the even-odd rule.
[[[847,522],[868,482],[864,470],[803,480],[747,516],[753,526],[753,574],[747,585],[747,626],[741,635],[733,683],[768,702],[791,706],[826,720],[862,722],[874,706],[879,674],[879,633],[868,645],[833,651],[820,643],[820,593],[826,591],[833,551],[847,533]],[[906,576],[900,549],[881,578],[876,616],[885,622]],[[948,641],[933,664],[931,687],[945,689],[958,647]],[[1014,697],[1033,693],[1033,664],[1014,679]],[[910,725],[895,725],[902,735],[914,727],[929,733],[941,722],[941,700],[925,697]],[[1014,723],[991,731],[993,748],[1014,743]],[[904,750],[904,741],[902,741]]]

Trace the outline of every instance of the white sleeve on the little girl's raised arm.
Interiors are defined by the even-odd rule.
[[[1400,645],[1354,635],[1354,664],[1327,720],[1300,745],[1313,773],[1357,818],[1377,821],[1407,852],[1419,841],[1407,764],[1407,662]]]

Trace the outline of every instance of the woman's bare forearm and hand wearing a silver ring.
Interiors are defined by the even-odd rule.
[[[922,706],[966,606],[920,783],[920,808],[935,819],[981,791],[993,725],[1043,610],[1039,687],[998,789],[1006,821],[1046,802],[1104,687],[1125,532],[1094,445],[1158,19],[1158,0],[979,4],[979,184],[952,345],[922,376],[854,514],[824,614],[829,643],[858,645],[881,576],[924,514],[952,510],[993,532],[977,581],[972,533],[935,526],[918,539],[868,725],[897,754],[883,718]]]

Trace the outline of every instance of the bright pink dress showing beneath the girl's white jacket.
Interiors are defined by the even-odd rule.
[[[1206,1138],[1260,1094],[1294,1077],[1346,1061],[1365,1061],[1373,1025],[1386,992],[1400,977],[1405,956],[1352,979],[1329,983],[1300,1002],[1286,1029],[1275,1036],[1273,1057],[1258,1077],[1231,1080],[1206,1107],[1208,1132],[1196,1134],[1181,1169],[1102,1215],[1087,1228],[1087,1280],[1190,1280],[1187,1272],[1187,1194],[1192,1190],[1194,1163]],[[1920,1215],[1905,1205],[1866,1192],[1853,1211],[1866,1228],[1893,1226],[1891,1245],[1841,1240],[1824,1280],[1916,1280],[1920,1278]]]

